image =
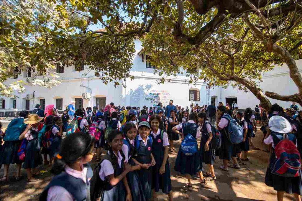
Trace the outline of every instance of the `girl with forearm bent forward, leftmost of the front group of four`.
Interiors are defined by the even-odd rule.
[[[113,130],[108,135],[109,150],[101,160],[99,176],[104,181],[104,191],[101,194],[101,201],[130,201],[131,192],[127,182],[126,174],[131,166],[124,164],[125,156],[121,151],[123,146],[123,133]]]

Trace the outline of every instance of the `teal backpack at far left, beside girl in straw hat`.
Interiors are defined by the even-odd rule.
[[[26,124],[23,123],[23,118],[13,119],[5,130],[4,141],[16,141],[19,140],[20,134],[26,129]]]

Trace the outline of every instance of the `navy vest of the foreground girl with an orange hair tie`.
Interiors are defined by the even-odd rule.
[[[89,178],[92,177],[92,169],[89,164],[84,164],[87,167],[86,183],[81,178],[76,178],[65,171],[53,177],[48,186],[40,195],[40,201],[46,201],[48,190],[50,187],[59,186],[65,188],[75,200],[90,200],[90,183]],[[64,181],[64,182],[62,182]]]

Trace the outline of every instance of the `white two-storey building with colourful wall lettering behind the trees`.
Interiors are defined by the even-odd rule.
[[[141,42],[135,40],[136,54],[133,58],[133,67],[131,75],[134,80],[126,79],[126,87],[118,85],[116,88],[113,83],[104,85],[102,81],[94,76],[94,72],[88,72],[85,66],[78,72],[74,66],[57,66],[60,85],[51,89],[40,86],[26,85],[26,91],[23,94],[15,95],[17,99],[0,97],[0,116],[15,116],[16,112],[21,110],[33,110],[36,104],[41,104],[42,108],[48,104],[54,104],[55,108],[64,110],[72,100],[76,101],[76,109],[79,107],[104,107],[110,102],[120,106],[144,105],[156,106],[158,102],[163,105],[169,104],[173,99],[175,105],[182,107],[190,106],[193,102],[198,105],[209,105],[211,100],[215,100],[217,105],[219,101],[233,102],[235,100],[240,109],[246,107],[254,108],[259,104],[258,99],[248,92],[239,91],[231,87],[222,89],[215,87],[207,89],[203,81],[198,81],[195,85],[188,84],[185,76],[168,77],[169,82],[158,84],[159,75],[154,75],[154,66],[146,63],[146,56],[140,54],[142,49]],[[302,70],[302,59],[297,60],[300,71]],[[88,73],[87,73],[88,72]],[[86,75],[87,74],[87,75]],[[9,84],[12,81],[27,80],[31,77],[28,72],[21,72],[15,79],[5,82]],[[39,77],[38,77],[39,78]],[[286,65],[265,73],[262,77],[261,88],[264,91],[274,91],[282,95],[290,95],[297,92],[297,87],[289,77]],[[86,98],[83,98],[85,97]],[[289,107],[291,103],[272,100],[272,103],[278,103],[283,107]]]

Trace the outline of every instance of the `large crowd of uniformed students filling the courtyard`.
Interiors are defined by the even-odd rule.
[[[223,160],[219,166],[223,171],[246,165],[250,146],[258,149],[252,138],[257,131],[256,116],[263,113],[260,109],[253,112],[251,108],[244,112],[238,107],[232,110],[234,104],[224,107],[219,103],[216,108],[213,102],[209,107],[197,105],[189,110],[188,107],[174,106],[172,100],[167,107],[159,103],[157,107],[144,106],[141,110],[139,107],[115,107],[114,103],[108,104],[104,110],[96,107],[74,110],[73,106],[71,103],[63,114],[59,114],[53,105],[48,105],[43,117],[38,115],[39,108],[32,114],[20,113],[19,118],[23,121],[18,139],[5,141],[0,146],[0,165],[4,164],[2,182],[8,181],[10,164],[17,164],[15,179],[20,180],[22,163],[27,181],[36,182],[37,167],[44,163],[52,165],[51,171],[56,176],[40,200],[149,200],[156,198],[159,190],[173,200],[168,158],[169,152],[176,150],[174,141],[184,140],[189,134],[195,139],[201,138],[198,152],[193,155],[178,150],[174,169],[186,176],[188,190],[193,189],[191,177],[196,175],[201,186],[205,186],[217,179],[213,166],[216,156]],[[74,110],[72,116],[70,110]],[[263,142],[270,145],[271,152],[265,183],[277,190],[278,200],[283,199],[284,192],[301,200],[300,170],[297,177],[271,174],[276,158],[274,148],[278,143],[273,137],[281,140],[283,134],[288,134],[288,139],[297,144],[301,153],[300,113],[296,114],[293,107],[284,112],[274,104],[267,114],[269,121],[263,122],[261,129]],[[64,136],[71,118],[77,121],[78,130]],[[243,141],[239,144],[232,144],[228,139],[227,127],[232,118],[243,129]],[[90,127],[95,125],[100,136],[88,134]],[[217,130],[221,134],[221,146],[215,149],[211,140]],[[4,137],[5,133],[1,136]],[[21,151],[22,144],[25,144],[24,152]],[[106,154],[101,157],[103,148]],[[23,158],[20,157],[22,153],[25,154]],[[98,166],[92,171],[89,162],[95,153]],[[230,161],[233,163],[228,164]],[[206,164],[207,171],[204,171],[203,164]]]

